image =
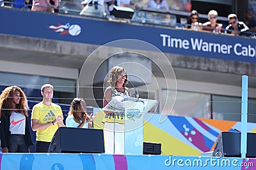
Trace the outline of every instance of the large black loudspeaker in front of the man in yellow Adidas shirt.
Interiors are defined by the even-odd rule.
[[[54,134],[49,153],[105,153],[102,129],[60,127]]]

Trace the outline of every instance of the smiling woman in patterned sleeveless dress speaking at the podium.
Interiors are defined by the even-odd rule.
[[[131,97],[131,91],[125,87],[127,73],[123,67],[115,66],[111,69],[108,83],[109,87],[104,92],[103,107],[107,106],[114,96]],[[115,108],[112,107],[112,109]],[[104,123],[105,153],[124,154],[125,115],[116,111],[104,112],[106,115],[102,122]]]

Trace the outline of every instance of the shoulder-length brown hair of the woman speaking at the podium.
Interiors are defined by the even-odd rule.
[[[108,80],[108,83],[110,85],[112,85],[113,87],[115,87],[116,85],[116,81],[118,80],[118,74],[122,74],[123,72],[125,72],[126,74],[126,71],[123,67],[120,67],[120,66],[115,66],[111,69],[110,71],[110,75],[109,75],[109,80]],[[126,79],[125,79],[125,83],[123,84],[123,87],[125,87],[125,85],[127,84],[127,75],[126,75]]]

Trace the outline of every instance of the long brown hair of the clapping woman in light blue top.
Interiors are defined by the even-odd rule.
[[[87,121],[89,120],[87,113],[83,110],[81,101],[83,101],[83,99],[81,98],[76,97],[75,99],[73,99],[70,109],[68,111],[68,115],[73,115],[73,118],[75,122],[77,122],[77,124],[81,124],[83,115],[85,115]]]

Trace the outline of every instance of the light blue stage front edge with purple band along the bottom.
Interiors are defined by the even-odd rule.
[[[256,159],[173,155],[109,155],[72,153],[1,153],[3,170],[141,170],[256,169]],[[255,167],[254,167],[255,166]]]

